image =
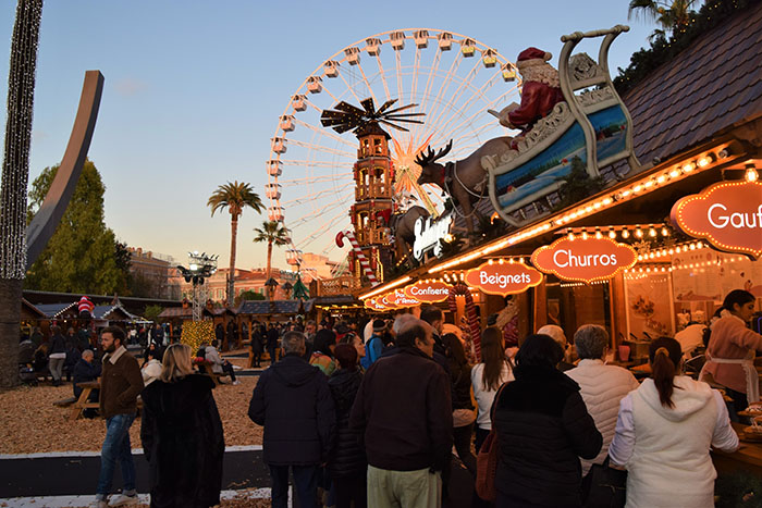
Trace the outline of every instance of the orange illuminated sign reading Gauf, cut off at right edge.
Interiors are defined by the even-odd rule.
[[[672,207],[672,222],[718,250],[762,255],[762,183],[723,182]]]

